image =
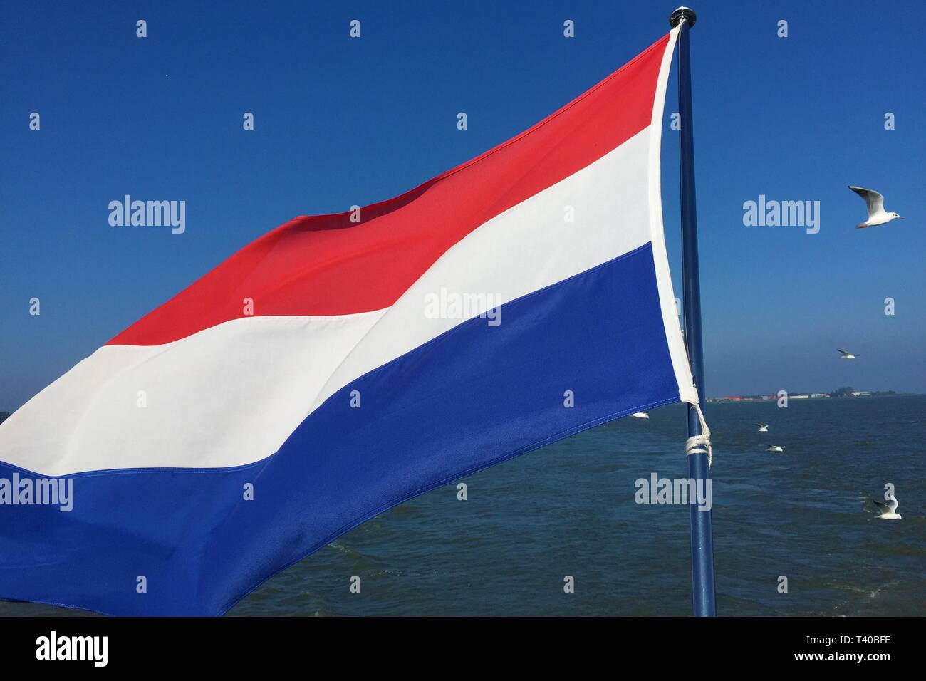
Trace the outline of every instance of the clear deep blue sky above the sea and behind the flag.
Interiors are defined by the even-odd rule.
[[[0,410],[261,233],[400,194],[529,127],[667,32],[675,6],[7,0]],[[708,395],[926,392],[921,3],[694,9]],[[574,38],[563,36],[566,19]],[[673,77],[667,120],[675,87]],[[667,125],[676,286],[677,149]],[[847,184],[878,189],[906,220],[854,229],[865,208]],[[108,202],[126,194],[185,200],[186,232],[111,227]],[[820,233],[745,226],[743,204],[759,195],[820,201]],[[839,359],[837,347],[858,359]]]

